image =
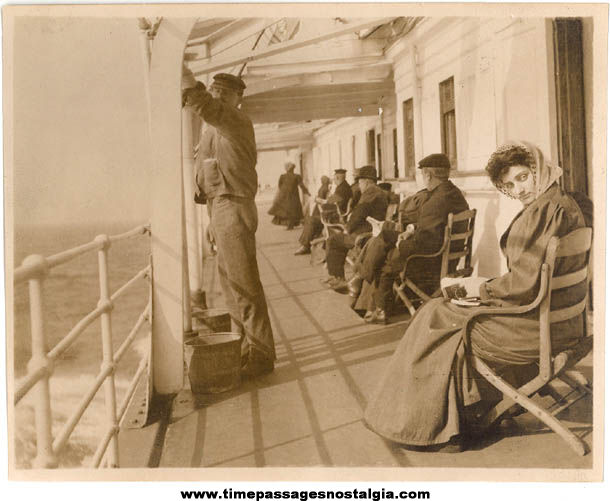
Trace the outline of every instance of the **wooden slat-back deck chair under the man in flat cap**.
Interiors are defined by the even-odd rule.
[[[442,278],[472,275],[472,239],[476,215],[476,209],[449,214],[441,248],[434,254],[414,254],[407,258],[403,271],[393,287],[394,293],[401,299],[411,315],[414,315],[416,311],[412,300],[413,295],[422,301],[428,301],[441,294],[440,280]],[[435,268],[439,259],[440,274],[437,276],[435,270],[431,273],[431,281],[434,282],[435,290],[432,294],[427,294],[409,278],[409,265],[422,266],[422,263],[430,261],[434,263]],[[409,291],[411,298],[407,294]]]

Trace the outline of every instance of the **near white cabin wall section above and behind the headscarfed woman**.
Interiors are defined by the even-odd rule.
[[[527,139],[551,157],[556,150],[548,44],[543,19],[428,18],[389,51],[404,193],[422,185],[417,172],[413,179],[405,171],[403,102],[413,99],[417,162],[442,150],[439,84],[453,77],[457,166],[452,177],[477,209],[474,258],[483,276],[505,270],[498,241],[520,210],[485,176],[489,155],[509,139]]]

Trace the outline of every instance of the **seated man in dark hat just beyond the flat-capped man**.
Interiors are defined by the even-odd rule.
[[[353,209],[347,222],[347,233],[332,234],[326,244],[326,264],[329,277],[325,282],[334,290],[341,290],[347,286],[344,270],[345,258],[347,252],[354,247],[356,237],[371,231],[371,224],[366,218],[372,217],[383,221],[388,208],[387,193],[376,184],[375,167],[365,165],[358,169],[356,180],[361,195],[358,205]]]

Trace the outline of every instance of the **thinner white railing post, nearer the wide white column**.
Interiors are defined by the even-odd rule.
[[[110,239],[108,238],[108,235],[98,235],[95,240],[101,244],[101,248],[97,253],[100,275],[99,306],[104,307],[105,309],[100,317],[102,326],[102,369],[108,367],[112,368],[112,371],[104,382],[106,421],[109,429],[114,428],[118,431],[116,419],[116,391],[114,385],[114,353],[112,350],[112,301],[110,299],[110,290],[108,287],[108,249],[110,247]],[[114,433],[110,439],[106,458],[107,464],[111,468],[117,468],[119,466],[119,442],[117,433]]]

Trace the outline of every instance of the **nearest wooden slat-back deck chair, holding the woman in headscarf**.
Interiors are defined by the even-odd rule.
[[[503,400],[484,416],[480,423],[482,428],[491,426],[518,404],[559,434],[577,454],[582,456],[587,453],[586,444],[556,416],[581,398],[592,393],[589,381],[580,372],[573,369],[573,366],[593,348],[593,336],[588,332],[591,239],[591,228],[581,228],[565,237],[553,237],[551,239],[540,271],[540,290],[531,304],[514,308],[477,308],[477,311],[469,317],[464,329],[464,342],[469,360],[474,369],[504,395]],[[587,256],[582,268],[561,276],[554,274],[556,258],[581,254]],[[581,282],[586,282],[586,294],[581,301],[562,309],[551,309],[554,290],[574,286]],[[492,370],[484,360],[472,354],[469,342],[469,327],[480,315],[519,315],[537,307],[539,308],[540,326],[538,375],[517,389]],[[584,335],[582,339],[575,346],[553,356],[552,324],[579,316],[583,321]],[[559,381],[564,384],[561,385]],[[566,388],[568,388],[567,393]],[[540,390],[550,394],[555,400],[548,409],[531,398]]]

